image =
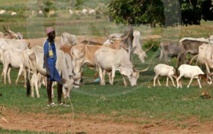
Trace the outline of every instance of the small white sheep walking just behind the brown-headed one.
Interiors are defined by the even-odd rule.
[[[157,64],[154,67],[155,77],[153,80],[153,86],[155,87],[156,80],[158,80],[158,84],[161,86],[159,81],[159,76],[166,76],[166,86],[168,87],[169,79],[171,79],[173,86],[175,87],[175,83],[172,77],[177,79],[176,71],[173,66],[169,66],[166,64]]]

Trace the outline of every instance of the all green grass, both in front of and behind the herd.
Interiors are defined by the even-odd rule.
[[[11,0],[10,0],[11,1]],[[17,4],[25,0],[18,1]],[[6,1],[3,4],[8,4]],[[3,5],[1,5],[3,7]],[[0,7],[1,7],[0,6]],[[8,5],[9,6],[9,5]],[[14,5],[11,5],[14,6]],[[20,5],[19,5],[20,6]],[[12,7],[10,7],[12,8]],[[67,9],[67,8],[65,8]],[[30,11],[28,11],[30,12]],[[27,13],[28,13],[27,12]],[[102,16],[96,19],[94,16],[69,16],[65,10],[60,10],[57,17],[28,17],[26,19],[17,16],[11,18],[9,15],[0,17],[0,28],[9,25],[11,30],[21,32],[25,38],[45,37],[44,27],[54,25],[57,35],[62,32],[69,32],[76,35],[95,35],[105,36],[103,28],[107,28],[109,33],[123,32],[123,25],[116,25],[108,22]],[[182,37],[207,37],[212,34],[212,22],[202,22],[200,26],[188,27],[156,27],[135,26],[134,28],[141,32],[141,43],[145,44],[151,39],[148,36],[159,35],[161,38],[153,38],[153,41],[178,41]],[[3,28],[0,29],[3,31]],[[159,51],[158,51],[159,52]],[[151,63],[147,72],[141,73],[136,87],[124,87],[122,78],[116,73],[115,85],[100,86],[93,83],[94,70],[84,68],[84,85],[79,89],[73,89],[71,92],[72,107],[54,107],[47,108],[47,95],[44,87],[40,89],[41,98],[31,98],[26,96],[26,89],[23,83],[14,85],[17,76],[17,70],[12,70],[12,85],[3,85],[1,79],[0,106],[8,109],[15,109],[19,112],[35,112],[47,114],[67,114],[75,113],[80,118],[83,115],[106,115],[113,117],[114,121],[148,123],[153,119],[165,119],[177,122],[177,125],[187,127],[187,124],[181,124],[182,121],[196,118],[199,121],[211,121],[213,119],[213,101],[212,99],[203,100],[199,96],[202,89],[198,88],[197,82],[194,81],[190,88],[186,88],[189,80],[184,80],[184,88],[177,89],[165,87],[165,79],[162,81],[162,87],[152,87],[153,68],[158,63],[154,58],[157,52],[148,52],[146,61]],[[171,65],[175,65],[176,59],[172,59]],[[136,56],[133,56],[133,63],[137,69],[146,68],[148,63],[141,64]],[[2,65],[0,66],[0,71]],[[212,86],[202,82],[212,96]],[[56,98],[54,98],[56,102]],[[104,119],[103,119],[104,120]],[[21,133],[19,131],[0,130],[1,133]],[[28,132],[23,132],[28,133]]]

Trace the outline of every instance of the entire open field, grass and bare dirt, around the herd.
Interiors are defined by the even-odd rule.
[[[18,0],[15,4],[3,2],[8,9],[29,7],[23,4],[26,0]],[[27,1],[31,2],[31,1]],[[61,4],[66,6],[66,4]],[[10,7],[10,8],[9,8]],[[17,10],[19,9],[17,8]],[[65,10],[66,9],[66,10]],[[24,38],[45,37],[45,26],[54,25],[57,35],[69,32],[90,39],[91,36],[105,37],[103,28],[109,33],[123,32],[125,26],[109,22],[105,16],[70,16],[68,7],[60,8],[55,17],[29,16],[12,18],[6,14],[0,17],[2,26],[10,26],[11,30],[21,32]],[[164,40],[177,42],[180,38],[208,37],[213,34],[213,22],[202,22],[200,26],[189,27],[156,27],[134,26],[141,32],[141,43],[161,42]],[[200,98],[201,92],[207,90],[213,96],[212,85],[202,82],[199,89],[197,81],[186,88],[188,80],[183,81],[184,87],[177,89],[172,86],[153,87],[153,67],[158,63],[156,52],[149,51],[146,63],[142,64],[133,56],[136,68],[143,69],[151,64],[147,72],[141,73],[136,87],[124,87],[121,76],[117,73],[115,85],[100,86],[94,83],[94,70],[84,67],[84,85],[71,92],[69,107],[47,107],[45,87],[40,89],[41,98],[26,96],[23,82],[14,84],[17,70],[12,69],[12,85],[3,85],[0,79],[0,113],[8,122],[0,119],[1,133],[125,133],[125,134],[177,134],[177,133],[212,133],[213,132],[213,101]],[[172,65],[176,59],[172,59]],[[0,71],[2,64],[0,65]],[[171,85],[171,84],[170,84]],[[56,101],[56,97],[54,98]]]

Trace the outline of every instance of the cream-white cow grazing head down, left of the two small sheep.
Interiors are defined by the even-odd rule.
[[[131,86],[137,85],[139,72],[133,69],[133,64],[129,59],[128,53],[123,49],[112,49],[109,47],[101,47],[95,52],[95,62],[98,67],[100,84],[105,85],[105,72],[110,71],[109,82],[113,85],[115,71],[127,76]],[[123,77],[124,85],[127,86],[126,80]]]

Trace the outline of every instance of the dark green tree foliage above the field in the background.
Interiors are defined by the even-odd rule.
[[[200,24],[201,19],[212,20],[212,0],[112,0],[109,15],[116,23]]]

